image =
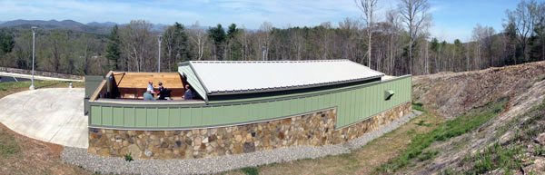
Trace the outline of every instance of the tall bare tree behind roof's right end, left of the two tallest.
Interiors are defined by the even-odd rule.
[[[371,68],[371,48],[372,48],[372,15],[374,11],[376,10],[378,0],[354,0],[354,3],[358,5],[358,7],[362,10],[364,16],[363,20],[365,20],[365,24],[367,25],[367,66]]]

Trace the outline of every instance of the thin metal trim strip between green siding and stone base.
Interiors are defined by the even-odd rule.
[[[224,125],[210,125],[210,126],[202,126],[202,127],[176,127],[176,128],[172,128],[172,127],[166,127],[166,128],[158,128],[158,127],[156,127],[156,128],[109,127],[109,126],[95,126],[95,125],[90,124],[91,122],[89,121],[88,128],[108,129],[108,130],[138,130],[138,131],[186,131],[186,130],[213,129],[213,128],[223,128],[223,127],[240,126],[240,125],[246,125],[246,124],[254,124],[254,123],[258,123],[258,122],[278,121],[278,120],[282,120],[282,119],[298,117],[298,116],[301,116],[301,115],[307,115],[307,114],[311,114],[311,113],[315,113],[315,112],[323,112],[323,111],[332,110],[332,109],[337,109],[337,106],[324,108],[324,109],[320,109],[320,110],[315,110],[315,111],[311,111],[311,112],[302,112],[302,113],[283,116],[283,117],[276,117],[276,118],[272,118],[272,119],[257,120],[257,121],[252,121],[252,122],[237,122],[237,123],[224,124]],[[336,124],[337,123],[335,121],[335,125]]]

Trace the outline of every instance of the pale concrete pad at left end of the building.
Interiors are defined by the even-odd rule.
[[[17,92],[0,99],[0,122],[27,137],[87,148],[83,88]]]

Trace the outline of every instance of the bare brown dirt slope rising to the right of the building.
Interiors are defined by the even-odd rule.
[[[490,68],[481,71],[465,73],[438,73],[416,76],[413,78],[413,100],[422,102],[424,106],[440,113],[446,118],[455,118],[464,112],[496,102],[500,99],[509,99],[502,106],[502,112],[483,124],[478,130],[471,131],[449,141],[440,141],[429,150],[441,153],[433,160],[416,162],[413,166],[401,170],[401,174],[443,174],[448,171],[474,172],[477,163],[471,162],[472,156],[481,152],[483,148],[500,142],[500,147],[522,148],[520,152],[520,170],[515,174],[532,172],[543,173],[545,158],[535,152],[538,146],[538,136],[545,128],[545,110],[535,112],[535,106],[541,104],[545,98],[545,62],[525,63],[502,68]],[[537,117],[536,117],[537,116]],[[539,122],[533,122],[538,119]],[[532,121],[531,123],[528,121]],[[519,137],[520,132],[531,128],[529,138]],[[545,137],[545,136],[544,136]],[[543,142],[545,143],[545,141]],[[489,149],[490,150],[490,149]],[[494,159],[497,157],[492,156]],[[465,159],[465,160],[464,160]],[[474,160],[478,161],[478,160]],[[480,160],[479,160],[480,161]],[[494,161],[494,160],[491,160]],[[502,174],[502,170],[484,169],[486,173]],[[536,169],[536,167],[540,167]],[[479,172],[479,173],[481,173]]]

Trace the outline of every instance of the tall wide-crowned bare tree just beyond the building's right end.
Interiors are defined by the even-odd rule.
[[[409,73],[412,73],[412,45],[421,30],[421,25],[431,19],[431,15],[428,14],[430,4],[428,0],[401,0],[398,7],[409,31]]]

